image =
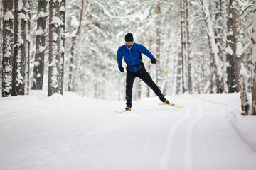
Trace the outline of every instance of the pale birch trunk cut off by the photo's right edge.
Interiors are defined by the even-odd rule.
[[[256,0],[252,28],[252,115],[256,115]]]

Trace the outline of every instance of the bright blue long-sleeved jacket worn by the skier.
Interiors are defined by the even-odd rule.
[[[117,50],[118,67],[122,66],[122,58],[124,57],[124,62],[127,64],[127,66],[129,66],[129,72],[139,71],[142,69],[141,65],[139,64],[142,62],[142,53],[150,59],[154,58],[151,52],[149,52],[149,50],[147,50],[146,47],[141,44],[133,43],[131,49],[128,49],[126,45],[122,45]]]

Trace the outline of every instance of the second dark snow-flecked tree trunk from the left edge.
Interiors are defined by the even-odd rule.
[[[25,94],[26,0],[14,1],[14,60],[12,96]]]

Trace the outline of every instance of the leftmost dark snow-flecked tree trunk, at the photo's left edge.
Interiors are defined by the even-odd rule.
[[[12,77],[12,60],[13,60],[13,42],[14,29],[12,13],[13,1],[3,0],[4,18],[3,18],[3,67],[2,67],[2,96],[11,96],[11,77]]]

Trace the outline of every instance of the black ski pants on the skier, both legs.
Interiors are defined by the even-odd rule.
[[[146,69],[142,68],[138,72],[127,72],[127,79],[126,79],[126,97],[127,100],[127,106],[132,107],[132,86],[134,84],[134,79],[136,77],[139,77],[142,79],[154,92],[157,96],[159,96],[159,99],[164,102],[165,98],[164,95],[161,93],[161,90],[159,87],[154,83],[152,78],[150,77],[149,73],[146,72]]]

